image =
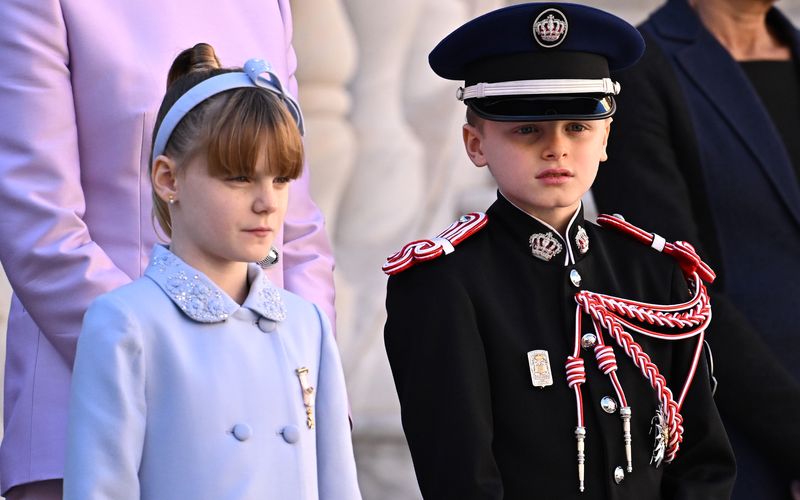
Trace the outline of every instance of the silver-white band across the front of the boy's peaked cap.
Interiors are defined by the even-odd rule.
[[[547,94],[619,94],[621,86],[611,78],[516,80],[513,82],[477,83],[469,87],[459,87],[456,97],[459,101],[515,95]]]

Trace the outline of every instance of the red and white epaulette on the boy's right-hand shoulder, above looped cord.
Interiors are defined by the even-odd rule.
[[[655,233],[648,233],[644,229],[638,228],[630,222],[626,222],[620,215],[601,214],[597,217],[597,223],[602,227],[616,229],[659,252],[671,256],[678,261],[678,265],[683,270],[683,274],[687,277],[696,272],[697,275],[700,276],[700,279],[707,283],[713,283],[714,279],[717,277],[714,270],[700,259],[694,247],[685,241],[669,243],[662,236]]]

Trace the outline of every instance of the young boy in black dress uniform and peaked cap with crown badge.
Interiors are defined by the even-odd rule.
[[[464,145],[498,196],[384,265],[427,499],[730,495],[703,355],[713,271],[688,244],[583,218],[620,91],[609,71],[643,49],[615,16],[547,3],[474,19],[430,54],[465,81]]]

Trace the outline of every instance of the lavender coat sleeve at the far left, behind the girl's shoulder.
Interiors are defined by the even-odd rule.
[[[0,19],[0,261],[25,309],[71,363],[89,302],[130,278],[83,221],[59,2],[3,1]]]

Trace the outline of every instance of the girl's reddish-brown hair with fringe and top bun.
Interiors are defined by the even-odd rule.
[[[153,143],[164,116],[183,94],[208,78],[232,71],[241,68],[221,68],[214,48],[206,43],[181,52],[169,69]],[[208,173],[215,177],[252,176],[262,157],[276,177],[297,179],[303,170],[303,142],[294,118],[280,97],[258,87],[216,94],[181,119],[164,155],[181,165],[198,154],[205,155]],[[151,163],[151,173],[152,169]],[[153,217],[171,237],[169,207],[155,190],[152,196]]]

